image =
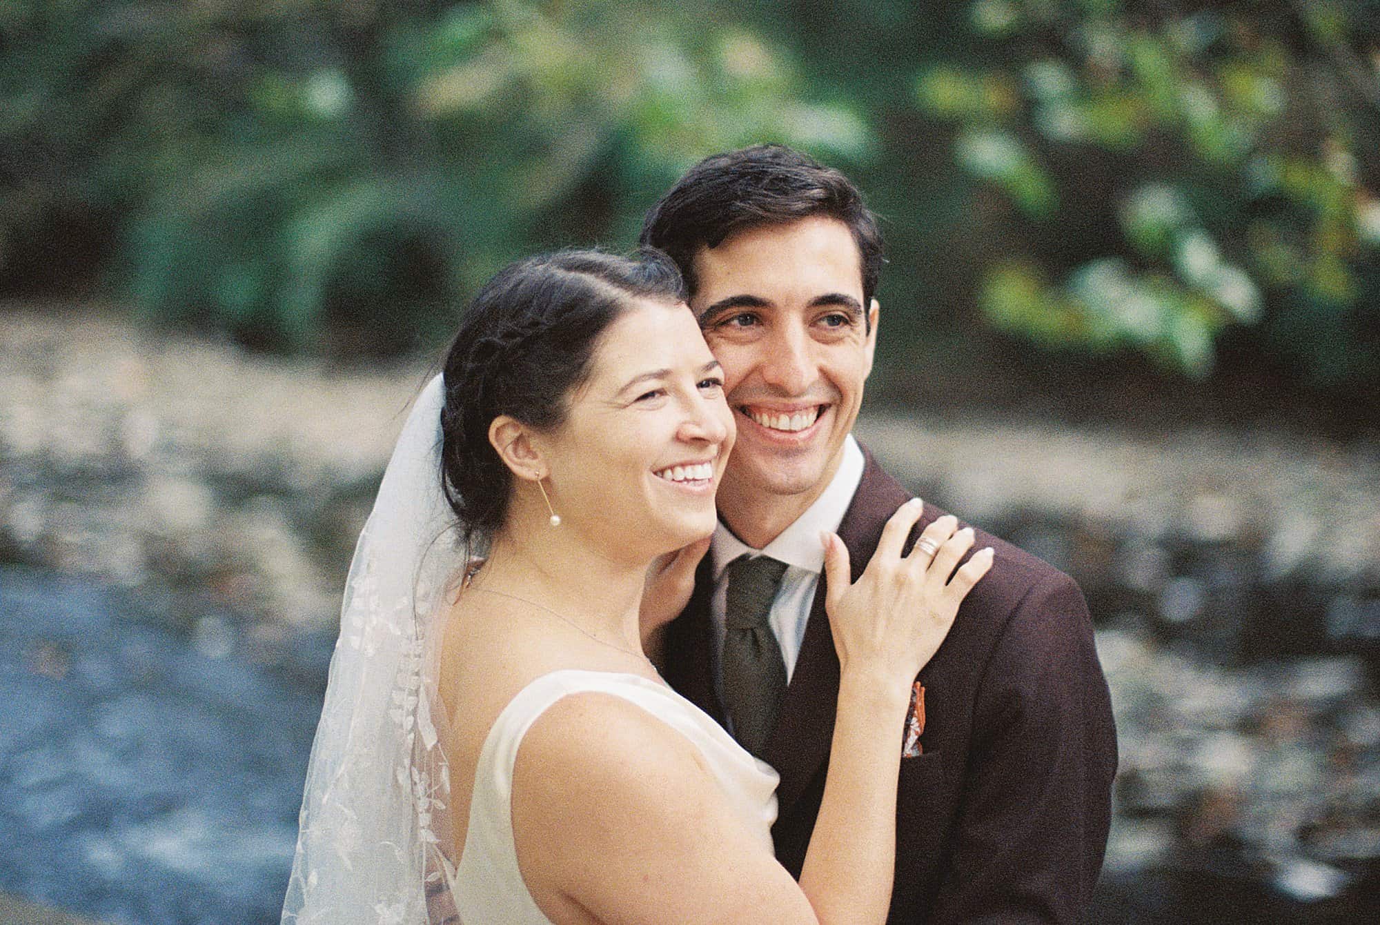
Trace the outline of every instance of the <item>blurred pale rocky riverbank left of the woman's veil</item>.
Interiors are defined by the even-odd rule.
[[[327,627],[424,378],[0,312],[0,555]]]

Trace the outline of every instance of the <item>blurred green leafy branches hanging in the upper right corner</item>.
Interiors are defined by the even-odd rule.
[[[919,108],[956,124],[966,173],[1075,235],[1018,239],[1016,264],[992,249],[977,293],[992,323],[1133,347],[1190,376],[1236,327],[1314,382],[1380,377],[1380,206],[1363,179],[1380,170],[1380,121],[1355,52],[1373,22],[1361,4],[1292,4],[1311,48],[1292,15],[1249,4],[1032,1],[1012,25],[995,10],[970,7],[973,33],[1000,22],[1018,40],[940,55],[916,76]],[[1021,76],[1023,101],[994,113],[974,87],[1003,75]],[[1119,240],[1076,235],[1112,224]]]

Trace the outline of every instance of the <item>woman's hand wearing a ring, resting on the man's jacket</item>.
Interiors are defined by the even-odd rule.
[[[926,526],[903,555],[923,508],[919,498],[897,508],[856,583],[843,541],[834,533],[821,537],[825,609],[840,668],[874,672],[905,692],[944,642],[963,598],[992,567],[991,547],[958,565],[973,548],[973,529],[959,530],[948,514]]]

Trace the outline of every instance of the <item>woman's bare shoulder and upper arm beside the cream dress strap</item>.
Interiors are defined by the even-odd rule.
[[[813,918],[698,750],[617,694],[569,694],[533,723],[512,821],[523,882],[558,924],[730,922],[763,907],[771,921]]]

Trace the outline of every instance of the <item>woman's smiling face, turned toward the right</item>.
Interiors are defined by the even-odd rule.
[[[690,309],[636,302],[600,337],[566,422],[541,440],[562,525],[629,558],[709,536],[733,428]]]

